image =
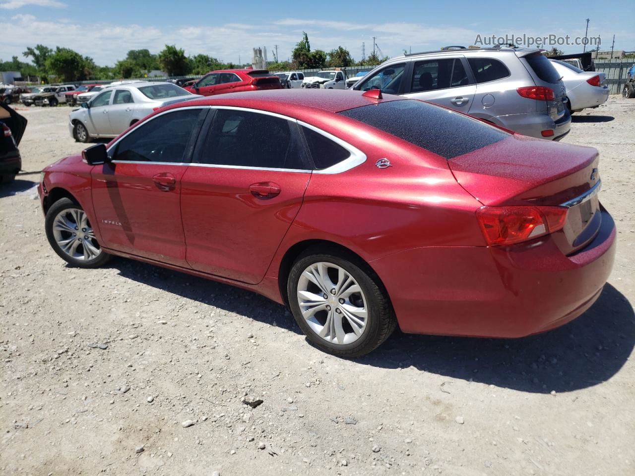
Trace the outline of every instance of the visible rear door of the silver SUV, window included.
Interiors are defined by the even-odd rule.
[[[476,94],[476,85],[468,76],[462,57],[435,57],[414,62],[409,83],[404,96],[436,103],[466,114]]]

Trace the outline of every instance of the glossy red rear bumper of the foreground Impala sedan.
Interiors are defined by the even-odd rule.
[[[509,248],[415,248],[370,265],[406,333],[518,338],[566,324],[598,298],[615,256],[615,223],[605,210],[602,219],[571,256],[547,236]]]

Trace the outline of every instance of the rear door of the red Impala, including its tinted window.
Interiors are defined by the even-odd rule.
[[[236,281],[262,281],[311,178],[297,122],[215,108],[182,181],[187,261]]]

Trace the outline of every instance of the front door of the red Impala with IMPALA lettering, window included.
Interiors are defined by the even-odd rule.
[[[132,129],[93,168],[102,246],[189,268],[181,221],[181,180],[208,107],[172,109]]]

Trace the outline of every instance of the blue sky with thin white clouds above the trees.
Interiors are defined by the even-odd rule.
[[[617,0],[607,8],[597,0],[548,3],[476,2],[454,0],[425,3],[286,0],[152,0],[90,3],[75,0],[0,0],[0,60],[11,60],[27,46],[64,46],[90,56],[99,65],[113,65],[128,50],[158,53],[165,44],[187,55],[204,53],[224,62],[250,62],[252,48],[265,46],[274,60],[290,58],[302,32],[312,50],[344,46],[355,60],[373,50],[373,37],[385,56],[441,46],[474,44],[477,36],[601,37],[601,50],[635,50],[632,0]],[[582,46],[558,46],[565,53]],[[588,50],[589,48],[587,48]]]

